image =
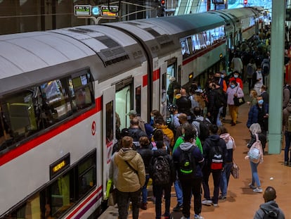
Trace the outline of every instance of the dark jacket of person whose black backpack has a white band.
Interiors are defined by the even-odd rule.
[[[210,168],[212,163],[212,146],[219,146],[222,151],[223,165],[227,160],[226,142],[219,137],[218,134],[211,134],[204,142],[203,156],[205,158],[205,165]]]

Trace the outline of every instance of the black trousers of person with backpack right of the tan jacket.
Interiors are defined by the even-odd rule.
[[[162,218],[162,194],[164,192],[164,216],[169,216],[171,204],[171,184],[153,184],[155,187],[155,218]]]

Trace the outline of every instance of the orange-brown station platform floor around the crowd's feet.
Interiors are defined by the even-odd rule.
[[[247,88],[247,85],[244,86]],[[245,92],[245,99],[250,99],[249,94]],[[231,118],[227,115],[224,121],[224,126],[228,132],[235,139],[237,146],[234,151],[235,163],[240,168],[240,178],[234,179],[231,176],[228,185],[227,198],[223,201],[219,200],[219,206],[202,206],[202,217],[205,219],[224,219],[224,218],[254,218],[254,213],[259,209],[259,205],[264,203],[263,193],[255,193],[250,189],[249,183],[252,180],[250,161],[245,160],[247,155],[247,142],[250,140],[250,132],[247,129],[247,113],[250,106],[244,104],[240,106],[238,112],[238,123],[235,126],[231,126]],[[283,139],[282,148],[284,149],[285,140]],[[291,167],[285,166],[284,151],[280,154],[268,154],[269,146],[267,144],[264,155],[264,163],[260,163],[258,166],[259,179],[261,180],[261,187],[266,189],[268,186],[272,186],[276,189],[277,199],[279,207],[284,211],[285,218],[291,219],[290,209],[290,184],[291,184]],[[212,176],[209,177],[210,194],[213,194],[213,182]],[[203,199],[203,195],[202,195]],[[172,199],[171,208],[176,206],[176,196],[174,187],[172,187]],[[162,213],[164,211],[164,201],[162,203]],[[190,218],[194,218],[193,211],[193,198],[190,210]],[[172,212],[174,219],[180,219],[182,216],[181,212]],[[107,211],[103,213],[99,218],[118,218],[117,206],[110,206]],[[129,210],[129,219],[132,218],[131,211]],[[139,218],[141,219],[152,219],[155,218],[155,204],[151,201],[150,196],[148,197],[148,209],[139,211]]]

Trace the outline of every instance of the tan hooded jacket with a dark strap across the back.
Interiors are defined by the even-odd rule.
[[[131,148],[122,148],[118,151],[114,161],[118,168],[118,183],[115,186],[120,192],[136,192],[143,187],[145,184],[145,165],[140,154]]]

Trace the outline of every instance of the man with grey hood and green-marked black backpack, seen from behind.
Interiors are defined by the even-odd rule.
[[[184,130],[183,139],[185,142],[180,144],[173,153],[174,165],[183,191],[182,218],[190,218],[190,199],[193,194],[194,218],[202,219],[200,213],[202,210],[201,183],[204,158],[198,147],[194,145],[195,130],[193,127]]]

